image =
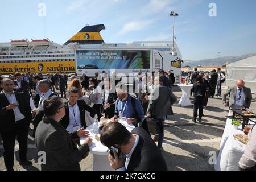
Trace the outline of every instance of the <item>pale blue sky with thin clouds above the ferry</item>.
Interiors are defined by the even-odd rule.
[[[46,16],[39,16],[40,3]],[[210,17],[210,3],[217,16]],[[172,40],[170,11],[183,60],[256,52],[255,0],[8,0],[0,4],[0,42],[43,39],[63,44],[86,24],[105,24],[105,43]]]

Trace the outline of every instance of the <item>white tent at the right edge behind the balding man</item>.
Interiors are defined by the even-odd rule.
[[[226,65],[226,86],[236,85],[236,80],[242,78],[245,86],[256,93],[256,56]]]

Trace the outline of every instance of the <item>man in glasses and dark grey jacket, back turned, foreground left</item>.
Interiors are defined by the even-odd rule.
[[[87,138],[79,148],[72,139],[87,137],[89,132],[81,128],[68,133],[59,123],[65,115],[61,98],[48,98],[43,108],[46,118],[39,123],[35,137],[37,150],[46,154],[46,163],[41,164],[42,171],[79,171],[79,162],[88,156],[92,139]]]

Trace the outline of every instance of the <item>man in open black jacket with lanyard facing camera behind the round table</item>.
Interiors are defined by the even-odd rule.
[[[73,131],[86,128],[85,110],[90,113],[90,116],[94,118],[95,114],[98,115],[98,119],[102,117],[97,110],[88,106],[84,100],[78,100],[79,90],[76,87],[68,89],[68,101],[64,103],[66,115],[61,119],[60,123],[67,131]]]

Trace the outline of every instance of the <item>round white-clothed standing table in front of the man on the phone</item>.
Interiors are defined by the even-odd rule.
[[[134,129],[134,125],[127,124],[126,121],[119,121],[122,123],[123,126],[126,127],[127,130],[131,131]],[[93,125],[86,127],[85,130],[90,130],[93,128]],[[90,131],[90,138],[93,139],[93,144],[90,146],[90,152],[93,154],[93,171],[113,171],[113,168],[110,167],[109,159],[108,159],[108,147],[101,144],[100,141],[95,139],[95,135],[97,133],[91,133]],[[80,137],[80,143],[84,143],[85,139],[88,137]]]

